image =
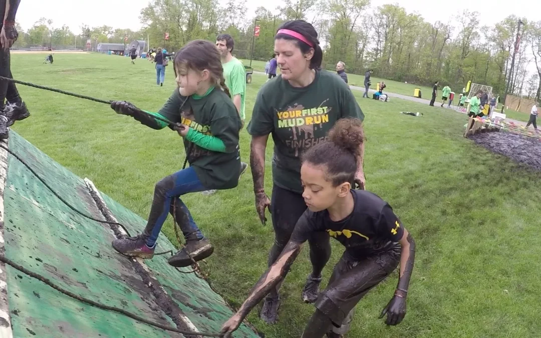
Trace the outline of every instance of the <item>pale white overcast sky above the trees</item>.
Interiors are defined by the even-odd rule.
[[[222,0],[225,3],[225,0]],[[17,21],[23,29],[29,29],[39,18],[52,19],[53,26],[61,27],[68,25],[76,33],[80,32],[79,26],[83,23],[89,26],[108,25],[113,28],[129,28],[138,30],[141,28],[139,14],[142,8],[147,6],[149,0],[22,0],[17,12]],[[272,5],[266,5],[267,9],[275,11],[276,6],[282,5],[283,1],[276,0]],[[374,1],[372,1],[372,7]],[[377,4],[398,3],[392,0],[379,0]],[[450,3],[450,8],[444,4]],[[454,0],[451,2],[434,0],[400,0],[408,12],[416,11],[426,21],[441,21],[447,23],[453,20],[458,11],[462,9],[474,9],[481,13],[481,25],[491,25],[501,21],[506,16],[515,14],[526,17],[533,21],[541,20],[541,1],[515,0],[512,5],[497,6],[493,0]],[[247,0],[248,17],[252,18],[255,9],[261,5],[260,0]],[[477,6],[477,8],[473,8]],[[453,20],[454,21],[454,20]]]

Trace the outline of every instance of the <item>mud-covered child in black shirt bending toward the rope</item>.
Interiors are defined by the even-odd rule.
[[[285,278],[302,244],[318,233],[328,233],[346,250],[334,267],[327,288],[315,302],[315,313],[302,337],[338,338],[348,331],[355,305],[400,263],[398,286],[380,314],[388,325],[406,315],[406,296],[415,259],[415,242],[392,208],[375,194],[351,190],[359,144],[364,140],[359,120],[339,120],[329,140],[302,157],[302,196],[308,210],[296,223],[291,239],[239,311],[222,326],[230,336],[250,310]]]

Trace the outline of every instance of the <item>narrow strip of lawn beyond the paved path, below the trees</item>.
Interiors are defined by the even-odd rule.
[[[250,60],[241,59],[242,63],[245,65],[250,64]],[[252,67],[255,71],[265,71],[265,63],[263,61],[257,61],[252,60]],[[280,70],[278,70],[280,72]],[[348,74],[347,75],[348,84],[355,85],[357,87],[364,88],[364,82],[365,82],[365,76],[364,75],[357,75],[357,74]],[[432,88],[428,88],[425,86],[418,86],[410,83],[403,83],[398,81],[392,81],[392,80],[386,80],[384,78],[379,77],[371,77],[372,85],[370,88],[376,89],[376,85],[378,82],[385,81],[385,84],[387,87],[385,88],[385,91],[388,92],[394,92],[395,94],[401,94],[401,95],[407,95],[407,96],[413,96],[413,91],[415,88],[421,89],[421,94],[423,95],[423,98],[427,98],[430,100],[432,96]],[[444,84],[445,85],[445,84]],[[443,87],[441,87],[443,88]],[[439,88],[441,90],[441,88]],[[462,90],[462,88],[454,89],[455,92],[459,93],[459,91]],[[458,94],[457,94],[458,95]],[[441,96],[441,95],[440,95]]]

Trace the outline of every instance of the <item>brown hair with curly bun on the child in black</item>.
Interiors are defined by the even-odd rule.
[[[324,165],[326,180],[332,182],[334,187],[345,182],[352,183],[364,141],[362,121],[342,118],[329,131],[327,141],[316,144],[302,155],[302,162]]]

